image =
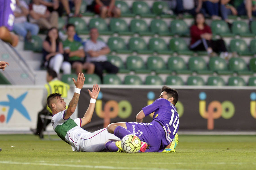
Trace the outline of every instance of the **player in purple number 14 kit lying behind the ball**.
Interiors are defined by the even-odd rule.
[[[174,106],[178,98],[175,89],[163,86],[159,98],[142,108],[136,116],[136,122],[111,123],[108,125],[108,132],[120,139],[128,134],[137,135],[141,141],[146,142],[142,142],[140,152],[162,152],[170,146],[179,129],[179,115]],[[142,123],[143,118],[152,112],[152,122]],[[105,146],[110,151],[117,151],[120,146],[115,145],[115,142],[107,141]]]

